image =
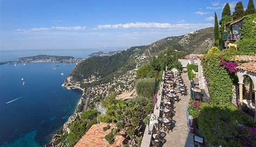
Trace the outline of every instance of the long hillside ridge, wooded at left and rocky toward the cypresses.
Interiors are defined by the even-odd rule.
[[[170,36],[151,45],[135,46],[112,56],[90,57],[79,63],[71,73],[73,80],[82,82],[94,75],[99,80],[83,87],[108,82],[111,78],[137,69],[163,50],[172,48],[183,54],[205,53],[214,44],[213,28],[204,28],[186,35]]]

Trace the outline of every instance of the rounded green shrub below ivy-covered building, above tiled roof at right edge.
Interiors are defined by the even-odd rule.
[[[237,42],[238,49],[244,53],[256,53],[255,39],[242,39]]]

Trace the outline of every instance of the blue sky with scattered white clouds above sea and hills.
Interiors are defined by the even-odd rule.
[[[228,2],[207,0],[0,0],[0,49],[148,45],[214,25]],[[248,0],[242,1],[244,8]]]

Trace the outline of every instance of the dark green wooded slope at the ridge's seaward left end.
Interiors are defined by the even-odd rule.
[[[93,74],[107,81],[118,70],[128,71],[136,67],[135,62],[130,60],[130,56],[140,54],[140,51],[137,51],[138,48],[143,52],[145,46],[134,46],[112,56],[87,58],[76,66],[71,76],[74,80],[82,81]]]

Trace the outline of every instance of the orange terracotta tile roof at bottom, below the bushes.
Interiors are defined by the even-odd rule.
[[[115,127],[113,123],[109,123],[109,125],[111,128],[104,131],[103,127],[106,127],[107,123],[93,124],[86,134],[77,142],[75,147],[122,146],[125,139],[122,135],[116,135],[113,144],[109,144],[109,142],[106,141],[105,136]]]

